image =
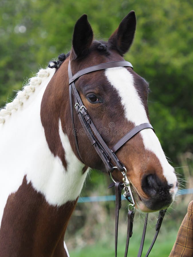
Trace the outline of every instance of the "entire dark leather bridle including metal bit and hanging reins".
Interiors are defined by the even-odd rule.
[[[142,123],[136,127],[134,127],[132,130],[130,130],[127,134],[125,134],[114,146],[112,149],[110,149],[106,143],[104,142],[103,138],[101,137],[100,133],[98,132],[97,128],[93,124],[91,117],[89,116],[86,107],[83,105],[83,102],[81,100],[81,97],[75,87],[75,81],[81,77],[82,75],[85,75],[87,73],[91,73],[94,71],[102,70],[102,69],[108,69],[113,67],[131,67],[133,69],[133,66],[130,62],[127,61],[117,61],[117,62],[109,62],[109,63],[101,63],[99,65],[90,66],[88,68],[82,69],[72,75],[71,71],[71,64],[69,61],[68,64],[68,76],[69,76],[69,100],[70,100],[70,112],[71,112],[71,120],[73,125],[73,131],[75,136],[75,144],[76,149],[78,152],[78,155],[83,162],[81,158],[81,154],[79,152],[78,147],[78,140],[77,140],[77,134],[75,133],[75,124],[74,124],[74,117],[73,117],[73,104],[72,104],[72,96],[75,102],[75,110],[78,115],[78,118],[81,122],[81,125],[88,136],[92,146],[95,148],[96,152],[100,156],[101,160],[103,161],[105,168],[112,178],[112,172],[115,168],[117,168],[120,172],[122,172],[123,175],[123,182],[116,182],[113,178],[113,182],[109,185],[109,188],[112,186],[115,186],[115,196],[116,196],[116,224],[115,224],[115,256],[117,256],[117,239],[118,239],[118,219],[119,219],[119,210],[121,208],[121,193],[122,190],[124,190],[124,196],[125,198],[130,202],[128,205],[128,229],[127,229],[127,240],[126,240],[126,250],[125,250],[125,257],[127,257],[128,253],[128,246],[129,246],[129,239],[132,236],[132,228],[133,228],[133,219],[134,219],[134,213],[135,213],[135,203],[132,196],[132,191],[130,188],[130,182],[126,176],[127,170],[122,162],[117,158],[115,152],[120,149],[128,140],[130,140],[133,136],[135,136],[138,132],[140,132],[143,129],[151,128],[153,131],[153,127],[150,123]],[[154,131],[155,132],[155,131]],[[84,163],[84,162],[83,162]],[[131,200],[129,199],[131,197]],[[147,257],[154,245],[154,242],[156,241],[156,238],[158,236],[162,220],[164,218],[164,215],[166,213],[166,210],[161,210],[159,212],[158,221],[156,224],[156,234],[154,236],[154,239],[152,241],[152,244],[146,254],[145,257]],[[146,226],[148,221],[148,214],[146,214],[145,223],[144,223],[144,230],[142,234],[142,240],[138,252],[138,257],[141,257],[142,251],[143,251],[143,245],[145,240],[145,233],[146,233]]]

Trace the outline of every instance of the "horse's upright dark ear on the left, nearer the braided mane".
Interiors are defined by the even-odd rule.
[[[81,57],[88,52],[93,41],[93,31],[87,20],[87,15],[83,14],[76,22],[72,39],[72,59]]]

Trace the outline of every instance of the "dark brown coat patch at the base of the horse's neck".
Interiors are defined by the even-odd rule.
[[[0,230],[0,256],[65,257],[63,239],[76,202],[51,206],[24,177],[17,192],[7,199]]]

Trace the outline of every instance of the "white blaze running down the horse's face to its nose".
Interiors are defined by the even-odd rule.
[[[118,91],[121,97],[121,103],[124,107],[125,117],[135,126],[142,123],[149,123],[148,117],[141,98],[134,86],[133,75],[124,67],[106,69],[105,75],[114,89]],[[174,168],[166,160],[160,142],[152,129],[146,128],[140,131],[145,149],[153,152],[163,168],[163,174],[168,184],[176,184],[176,175]],[[176,189],[177,190],[177,189]]]

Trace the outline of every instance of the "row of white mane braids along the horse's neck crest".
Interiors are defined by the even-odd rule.
[[[29,79],[28,83],[22,88],[22,90],[17,92],[15,99],[11,103],[7,103],[5,107],[0,110],[0,124],[5,123],[6,117],[9,117],[12,114],[12,111],[17,111],[35,91],[36,87],[39,87],[43,79],[49,77],[49,70],[49,68],[40,69],[36,74],[36,77]]]

